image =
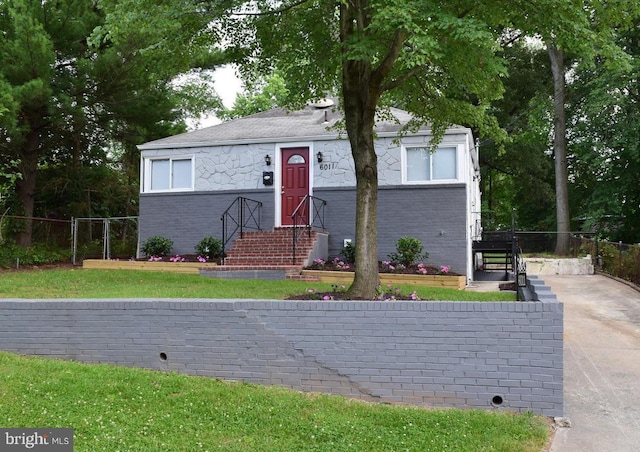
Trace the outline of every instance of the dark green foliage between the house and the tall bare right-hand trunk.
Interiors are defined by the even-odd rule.
[[[491,113],[508,139],[480,144],[483,227],[510,229],[515,213],[518,229],[554,230],[549,59],[541,46],[523,39],[505,46],[503,58],[505,93]]]

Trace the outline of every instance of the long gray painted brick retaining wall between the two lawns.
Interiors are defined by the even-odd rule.
[[[0,349],[343,394],[563,415],[558,302],[0,300]]]

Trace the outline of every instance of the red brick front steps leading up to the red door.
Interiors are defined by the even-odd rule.
[[[312,230],[309,236],[305,231],[296,243],[294,261],[292,228],[245,232],[233,241],[223,265],[203,268],[200,274],[224,279],[316,281],[301,272],[311,263],[314,253],[323,254],[321,248],[323,243],[326,247],[327,237],[327,233]]]

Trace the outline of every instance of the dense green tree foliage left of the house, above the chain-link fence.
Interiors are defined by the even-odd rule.
[[[106,196],[110,176],[96,181],[93,176],[100,172],[93,172],[94,185],[83,187],[73,177],[87,174],[82,167],[108,166],[114,150],[126,183],[135,184],[135,145],[184,131],[187,116],[215,101],[202,88],[175,83],[176,75],[214,63],[218,53],[211,45],[183,42],[208,19],[195,11],[144,24],[123,19],[141,7],[92,0],[0,3],[0,162],[5,171],[21,175],[13,213],[37,213],[41,169],[55,174],[68,168],[64,192],[76,201],[86,199],[87,190],[104,190]],[[31,243],[31,222],[16,239]]]

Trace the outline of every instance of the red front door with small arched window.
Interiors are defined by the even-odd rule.
[[[282,226],[291,226],[291,215],[309,194],[309,148],[282,149]],[[304,222],[307,221],[304,212]],[[300,220],[298,220],[300,224]]]

